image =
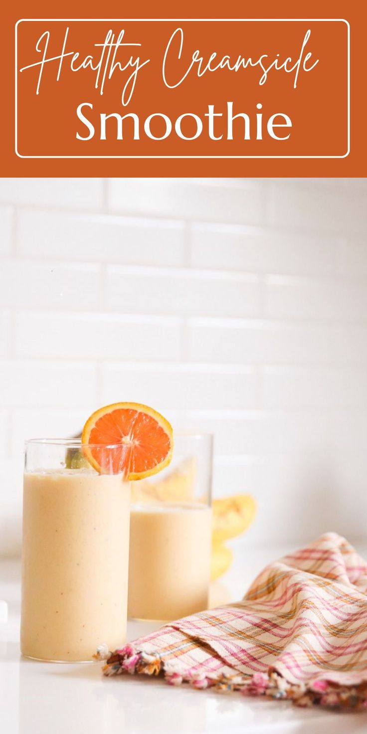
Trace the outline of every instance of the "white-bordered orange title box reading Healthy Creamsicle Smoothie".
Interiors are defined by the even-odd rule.
[[[15,155],[342,159],[345,19],[19,19]]]

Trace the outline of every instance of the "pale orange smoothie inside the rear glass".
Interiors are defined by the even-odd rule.
[[[206,609],[211,509],[136,504],[130,527],[128,617],[178,619]]]

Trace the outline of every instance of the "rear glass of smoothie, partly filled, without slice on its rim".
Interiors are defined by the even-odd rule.
[[[172,620],[208,607],[213,437],[175,434],[169,467],[131,482],[128,617]]]

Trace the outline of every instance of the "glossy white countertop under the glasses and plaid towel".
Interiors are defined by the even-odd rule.
[[[283,554],[282,549],[276,556]],[[236,554],[238,556],[238,553]],[[219,601],[239,598],[274,550],[256,554],[244,573],[234,567],[217,584]],[[247,556],[248,558],[248,556]],[[240,579],[240,581],[239,581]],[[37,663],[19,652],[20,564],[0,562],[0,731],[7,734],[363,734],[365,714],[297,708],[290,702],[167,686],[148,677],[101,675],[100,664]],[[158,625],[156,625],[158,626]],[[153,631],[128,624],[128,639]]]

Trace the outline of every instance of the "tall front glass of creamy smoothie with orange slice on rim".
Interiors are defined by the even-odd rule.
[[[126,639],[130,484],[116,473],[127,447],[78,440],[26,442],[23,484],[21,652],[90,661]],[[125,460],[121,461],[125,466]]]

